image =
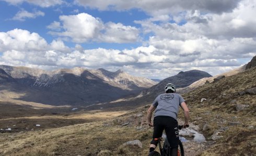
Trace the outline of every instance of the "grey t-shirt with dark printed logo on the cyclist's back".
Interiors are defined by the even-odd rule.
[[[155,116],[171,116],[177,120],[179,106],[182,102],[185,102],[185,100],[181,95],[176,93],[165,93],[158,95],[152,104],[154,107],[156,107]]]

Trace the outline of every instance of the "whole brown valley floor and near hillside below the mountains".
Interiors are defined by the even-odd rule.
[[[182,94],[191,115],[191,126],[184,134],[186,155],[256,152],[255,82],[253,67],[215,82],[191,83],[192,89]],[[0,155],[147,155],[153,132],[146,123],[147,109],[154,95],[162,92],[161,87],[154,87],[89,107],[28,102],[15,98],[20,94],[2,90],[2,95],[12,98],[0,101]],[[193,131],[206,140],[194,140]],[[133,140],[142,146],[125,144]]]

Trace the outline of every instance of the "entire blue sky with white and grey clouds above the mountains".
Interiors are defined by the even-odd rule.
[[[217,75],[256,55],[256,0],[0,0],[0,64]]]

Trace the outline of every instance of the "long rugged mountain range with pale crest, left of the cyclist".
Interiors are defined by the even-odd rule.
[[[136,94],[156,84],[149,79],[131,76],[121,70],[110,72],[104,69],[88,70],[76,67],[45,71],[4,65],[0,66],[0,69],[5,77],[9,76],[8,79],[13,80],[11,90],[26,93],[19,98],[20,100],[50,105],[89,105],[107,102]],[[0,83],[0,89],[7,88],[5,86],[6,83]]]

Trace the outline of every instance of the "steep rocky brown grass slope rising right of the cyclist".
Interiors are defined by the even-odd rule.
[[[256,153],[256,95],[238,94],[253,87],[256,87],[256,68],[205,84],[184,95],[191,110],[191,120],[202,130],[205,126],[208,139],[219,132],[215,146],[202,155]],[[201,98],[207,101],[201,102]],[[237,111],[239,104],[249,107]]]

